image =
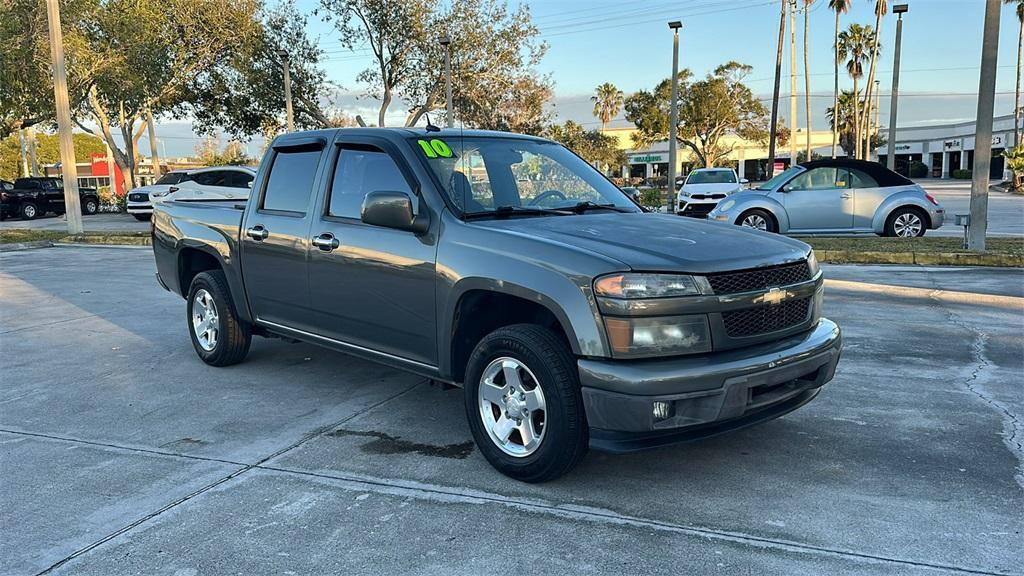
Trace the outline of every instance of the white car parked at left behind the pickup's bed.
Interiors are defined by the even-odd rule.
[[[128,193],[128,213],[147,220],[153,205],[168,198],[175,200],[245,200],[249,198],[256,170],[248,166],[213,166],[195,170],[174,170],[156,183]]]

